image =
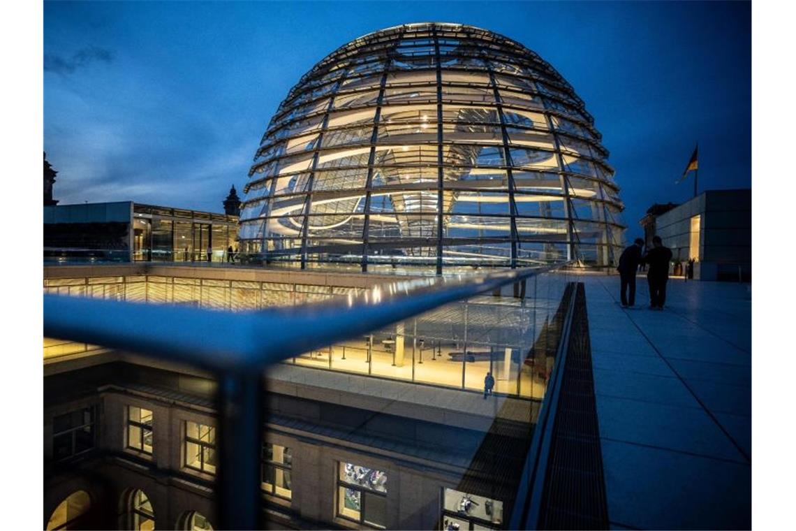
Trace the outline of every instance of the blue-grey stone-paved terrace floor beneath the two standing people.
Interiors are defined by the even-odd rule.
[[[751,527],[751,288],[583,275],[612,529]]]

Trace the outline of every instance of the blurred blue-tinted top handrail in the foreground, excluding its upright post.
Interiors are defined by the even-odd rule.
[[[254,369],[568,264],[572,262],[478,277],[401,280],[349,295],[346,301],[236,313],[45,295],[44,333],[50,338],[150,353],[211,370]]]

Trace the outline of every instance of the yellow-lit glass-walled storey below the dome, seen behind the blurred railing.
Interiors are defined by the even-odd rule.
[[[525,287],[448,304],[285,363],[471,391],[482,391],[491,371],[496,392],[541,399],[556,349],[552,341],[546,344],[546,330],[556,320],[566,279],[564,274],[540,275]],[[61,295],[243,311],[345,300],[365,292],[377,296],[378,286],[394,281],[388,275],[261,267],[104,264],[45,267],[44,289]],[[46,338],[44,357],[47,363],[102,351]]]

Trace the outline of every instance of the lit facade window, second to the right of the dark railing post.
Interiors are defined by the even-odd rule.
[[[373,527],[387,526],[387,474],[339,463],[338,516]]]

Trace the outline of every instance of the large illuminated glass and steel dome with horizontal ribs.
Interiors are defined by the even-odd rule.
[[[594,119],[523,45],[467,25],[369,33],[276,111],[240,250],[396,267],[615,264],[623,206]]]

